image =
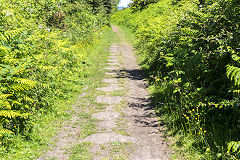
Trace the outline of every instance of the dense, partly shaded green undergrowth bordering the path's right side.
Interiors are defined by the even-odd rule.
[[[183,159],[239,159],[239,1],[147,2],[112,20],[135,33],[156,110],[190,153]]]

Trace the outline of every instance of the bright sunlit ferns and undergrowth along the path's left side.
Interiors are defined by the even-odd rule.
[[[1,157],[21,150],[23,141],[40,143],[45,135],[38,126],[52,123],[39,121],[45,115],[67,114],[61,106],[84,87],[88,52],[105,34],[116,3],[0,0]]]

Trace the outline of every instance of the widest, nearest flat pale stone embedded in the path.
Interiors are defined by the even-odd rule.
[[[116,133],[97,133],[84,139],[84,142],[92,142],[96,144],[107,144],[112,142],[127,143],[136,141],[137,140],[132,137],[118,135]]]

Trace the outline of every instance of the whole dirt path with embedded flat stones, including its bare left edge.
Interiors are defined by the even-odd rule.
[[[56,146],[39,158],[65,160],[70,154],[62,149],[77,143],[88,143],[90,158],[93,160],[168,160],[171,151],[162,138],[161,126],[158,123],[146,90],[141,70],[136,63],[133,47],[126,42],[126,35],[113,26],[120,42],[113,43],[109,49],[106,76],[103,87],[95,88],[95,102],[103,109],[94,111],[92,119],[97,120],[95,134],[85,138],[77,138],[79,126],[71,126],[81,121],[77,114],[64,127]],[[76,109],[77,112],[77,109]],[[68,138],[71,134],[71,138]],[[68,147],[70,148],[70,147]],[[78,158],[79,159],[79,158]],[[81,159],[81,158],[80,158]]]

